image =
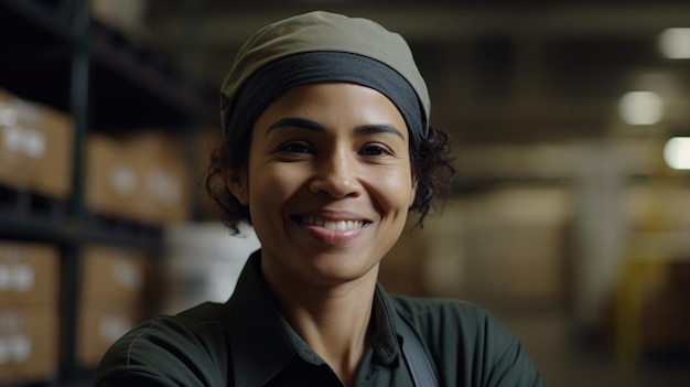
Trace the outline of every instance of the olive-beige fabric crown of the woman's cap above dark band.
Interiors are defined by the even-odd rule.
[[[422,130],[429,127],[431,101],[412,53],[397,33],[362,18],[315,11],[269,24],[256,32],[239,49],[220,89],[220,110],[227,133],[229,115],[242,85],[263,66],[288,56],[311,52],[356,54],[397,72],[417,95],[421,106]]]

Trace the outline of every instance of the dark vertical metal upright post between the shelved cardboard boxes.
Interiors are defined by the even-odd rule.
[[[82,377],[77,362],[77,323],[80,293],[80,255],[84,244],[84,169],[85,144],[89,126],[90,95],[90,10],[88,0],[72,0],[71,110],[74,117],[74,169],[69,219],[72,244],[65,259],[65,362],[64,377],[74,381]]]

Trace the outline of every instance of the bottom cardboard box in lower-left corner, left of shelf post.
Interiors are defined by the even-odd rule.
[[[0,309],[0,384],[54,379],[58,329],[54,308]]]

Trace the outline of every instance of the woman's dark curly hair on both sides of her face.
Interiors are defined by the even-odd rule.
[[[222,208],[223,223],[233,234],[239,234],[238,225],[242,222],[251,224],[249,207],[239,203],[228,190],[223,170],[225,168],[246,168],[249,160],[251,130],[241,130],[237,136],[227,136],[212,152],[211,163],[204,178],[206,192]],[[444,198],[451,193],[452,178],[455,169],[452,165],[451,141],[444,131],[429,128],[423,141],[410,137],[410,163],[417,179],[414,203],[410,211],[419,212],[414,224],[423,227],[423,221],[431,209],[433,198]]]

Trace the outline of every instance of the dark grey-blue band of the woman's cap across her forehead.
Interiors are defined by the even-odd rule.
[[[305,52],[281,57],[247,79],[228,108],[225,135],[238,139],[251,131],[261,112],[287,89],[316,82],[351,82],[370,87],[390,99],[408,126],[410,141],[425,137],[423,108],[414,89],[386,64],[344,52]]]

